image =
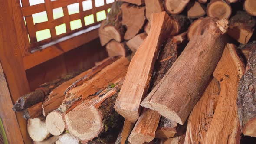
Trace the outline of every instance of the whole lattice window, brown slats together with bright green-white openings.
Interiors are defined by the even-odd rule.
[[[114,0],[21,0],[31,48],[97,25]]]

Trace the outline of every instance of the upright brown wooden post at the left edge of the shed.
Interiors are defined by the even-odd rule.
[[[10,144],[30,144],[25,119],[11,109],[13,101],[30,92],[21,53],[28,47],[24,42],[20,1],[1,0],[0,9],[0,117]]]

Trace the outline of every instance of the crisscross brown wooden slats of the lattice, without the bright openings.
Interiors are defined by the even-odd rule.
[[[90,2],[91,9],[83,10],[83,2]],[[103,1],[103,0],[102,0]],[[95,3],[97,0],[44,0],[44,3],[31,5],[29,0],[21,0],[22,4],[22,14],[26,21],[26,27],[28,31],[28,36],[30,39],[30,48],[33,49],[36,46],[42,45],[44,43],[49,43],[55,39],[58,39],[62,36],[69,35],[71,33],[77,32],[81,29],[88,28],[90,26],[97,25],[102,20],[97,19],[98,12],[105,12],[105,15],[108,13],[108,8],[111,7],[112,3],[108,3],[108,0],[104,0],[104,5],[96,7]],[[70,14],[68,10],[68,6],[72,4],[79,4],[79,12]],[[56,8],[62,8],[63,16],[54,19],[53,10]],[[47,21],[41,23],[35,23],[33,20],[33,14],[46,12],[47,14]],[[85,17],[86,16],[93,16],[93,22],[89,24],[86,23]],[[78,20],[81,21],[80,28],[72,29],[70,25],[73,21]],[[56,33],[56,26],[61,26],[65,24],[66,32],[58,34]],[[36,33],[42,30],[49,29],[50,36],[47,39],[38,40]]]

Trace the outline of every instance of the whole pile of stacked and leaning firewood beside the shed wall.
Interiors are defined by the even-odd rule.
[[[118,0],[109,58],[13,106],[36,144],[239,144],[256,137],[256,0]]]

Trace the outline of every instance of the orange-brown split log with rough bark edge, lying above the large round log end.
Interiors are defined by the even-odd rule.
[[[91,79],[88,79],[89,77],[85,75],[85,77],[73,83],[66,91],[61,106],[62,111],[69,109],[75,101],[82,101],[89,96],[98,95],[110,83],[115,83],[125,77],[128,65],[128,59],[121,57],[95,74]]]

